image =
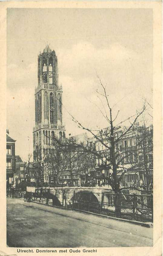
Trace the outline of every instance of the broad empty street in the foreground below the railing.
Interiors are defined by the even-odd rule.
[[[9,247],[153,246],[153,229],[7,198]]]

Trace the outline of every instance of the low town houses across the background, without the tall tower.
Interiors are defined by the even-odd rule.
[[[147,130],[145,144],[144,140],[139,143],[138,136],[133,131],[121,137],[124,132],[123,127],[119,127],[115,132],[115,139],[119,140],[115,144],[115,153],[118,154],[116,158],[117,176],[120,177],[124,170],[127,170],[120,181],[123,187],[130,185],[139,187],[140,180],[144,185],[152,183],[152,126],[148,127]],[[56,160],[56,155],[52,155],[51,158],[45,156],[41,161],[25,163],[19,155],[15,155],[16,141],[9,136],[7,131],[7,184],[18,185],[25,181],[29,185],[50,185],[51,187],[55,185],[108,185],[109,179],[111,180],[112,178],[112,164],[109,161],[109,149],[104,144],[107,142],[109,147],[109,137],[106,136],[105,132],[104,135],[102,134],[104,144],[100,142],[101,139],[90,140],[86,133],[77,137],[82,139],[82,142],[84,142],[85,147],[88,149],[90,149],[90,143],[93,143],[92,152],[95,151],[98,155],[91,153],[91,150],[88,152],[74,150],[74,143],[70,143],[69,151],[66,152],[66,154],[70,153],[70,158],[69,156],[67,159],[65,159],[66,157],[61,157],[59,160]],[[79,142],[75,139],[76,142],[81,143],[81,141]],[[145,152],[143,152],[143,144]],[[53,147],[55,146],[53,145]],[[146,160],[144,159],[144,154],[147,155]],[[60,166],[59,169],[57,164]]]

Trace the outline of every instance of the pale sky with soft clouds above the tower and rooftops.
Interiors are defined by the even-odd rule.
[[[143,98],[152,104],[151,9],[8,8],[7,129],[24,160],[33,151],[37,61],[46,42],[58,56],[66,134],[84,132],[70,114],[91,129],[108,126],[99,78],[113,116],[120,110],[117,124],[139,111]]]

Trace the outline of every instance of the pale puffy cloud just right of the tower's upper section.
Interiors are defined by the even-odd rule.
[[[118,66],[124,61],[136,61],[138,55],[133,50],[116,43],[108,48],[96,48],[89,42],[80,42],[69,50],[58,52],[59,71],[67,76],[85,78],[106,74],[110,65]]]

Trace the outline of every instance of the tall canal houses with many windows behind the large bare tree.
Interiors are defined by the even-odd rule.
[[[112,178],[109,132],[101,135],[102,142],[96,140],[96,151],[102,157],[96,157],[95,177],[97,183],[108,184]],[[126,127],[117,127],[114,131],[117,176],[122,187],[146,186],[153,183],[153,126],[137,124],[127,131]],[[108,147],[105,147],[107,144]]]

